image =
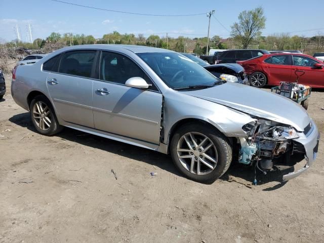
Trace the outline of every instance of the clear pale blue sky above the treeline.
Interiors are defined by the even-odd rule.
[[[263,34],[294,32],[304,36],[324,34],[324,1],[311,2],[295,0],[232,0],[232,1],[148,1],[148,0],[62,0],[80,5],[149,14],[195,14],[215,10],[216,18],[230,30],[238,14],[262,6],[267,18]],[[308,4],[309,3],[309,4]],[[73,32],[92,34],[96,38],[112,32],[143,33],[145,36],[158,34],[177,37],[207,36],[206,15],[190,17],[154,17],[112,13],[88,8],[70,6],[50,0],[0,0],[0,41],[17,38],[14,27],[20,28],[23,41],[26,40],[26,26],[32,25],[32,37],[45,38],[51,32]],[[211,19],[211,36],[228,37],[229,32],[215,18]],[[303,31],[316,29],[313,31]],[[297,32],[298,31],[298,32]],[[181,33],[181,34],[180,34]]]

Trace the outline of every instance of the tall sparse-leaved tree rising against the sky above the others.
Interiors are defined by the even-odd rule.
[[[238,15],[238,22],[231,26],[231,36],[240,43],[243,49],[247,49],[253,38],[261,34],[265,28],[266,18],[262,7],[243,11]]]

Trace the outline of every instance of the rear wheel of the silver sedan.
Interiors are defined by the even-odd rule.
[[[29,105],[31,121],[38,133],[52,136],[62,131],[51,102],[43,95],[36,96]]]

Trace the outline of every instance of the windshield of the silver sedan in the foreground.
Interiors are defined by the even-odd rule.
[[[220,79],[179,53],[137,53],[172,89],[189,86],[212,86]]]

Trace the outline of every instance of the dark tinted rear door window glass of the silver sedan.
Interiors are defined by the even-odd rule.
[[[90,77],[96,51],[66,52],[60,62],[59,72]]]

